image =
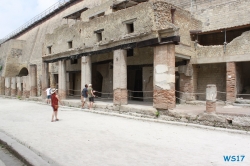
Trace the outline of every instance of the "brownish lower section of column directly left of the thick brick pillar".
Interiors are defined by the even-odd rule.
[[[115,89],[113,103],[115,105],[128,104],[128,90],[127,89]]]

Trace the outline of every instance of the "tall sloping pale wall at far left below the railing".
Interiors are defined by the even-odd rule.
[[[26,33],[19,36],[16,40],[10,40],[1,44],[0,47],[0,65],[3,69],[0,71],[2,76],[16,76],[16,73],[22,68],[28,68],[27,64],[37,65],[37,82],[38,87],[41,85],[41,63],[42,55],[46,53],[44,49],[45,34],[52,33],[53,30],[63,24],[72,25],[74,20],[63,19],[64,16],[69,15],[77,10],[87,6],[92,8],[94,6],[105,3],[108,0],[84,0],[74,6],[59,12],[49,20],[40,23],[38,26],[30,29]],[[22,45],[22,46],[20,46]],[[19,50],[18,50],[19,49]],[[21,50],[21,51],[20,51]],[[18,54],[18,55],[17,55]],[[20,56],[21,55],[21,56]],[[13,63],[15,62],[15,63]],[[16,63],[18,62],[18,63]],[[40,94],[38,88],[38,94]]]

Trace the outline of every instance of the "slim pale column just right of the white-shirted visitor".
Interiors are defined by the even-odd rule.
[[[61,99],[66,99],[66,61],[59,61],[58,66],[58,93]]]

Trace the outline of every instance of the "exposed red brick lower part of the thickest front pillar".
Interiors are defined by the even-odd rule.
[[[173,109],[175,108],[174,90],[154,90],[154,108]]]

